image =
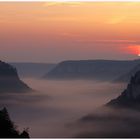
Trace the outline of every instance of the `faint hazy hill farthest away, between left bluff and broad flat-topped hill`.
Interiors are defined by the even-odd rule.
[[[20,77],[24,78],[41,78],[46,74],[46,72],[50,71],[54,68],[55,64],[49,63],[10,63],[12,66],[16,67]]]

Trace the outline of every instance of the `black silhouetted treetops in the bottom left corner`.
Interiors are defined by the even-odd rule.
[[[16,130],[6,108],[0,110],[0,138],[29,138],[26,130],[22,133]]]

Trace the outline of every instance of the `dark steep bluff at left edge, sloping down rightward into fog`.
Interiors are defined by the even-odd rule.
[[[20,80],[16,68],[0,61],[0,93],[27,91],[31,91],[31,89]]]

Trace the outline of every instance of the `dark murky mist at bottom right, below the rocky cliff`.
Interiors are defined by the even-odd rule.
[[[82,138],[140,138],[140,112],[103,107],[71,126]],[[76,131],[78,130],[78,131]]]

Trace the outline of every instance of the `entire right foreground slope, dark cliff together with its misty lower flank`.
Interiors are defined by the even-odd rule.
[[[76,137],[140,138],[140,71],[116,98],[77,122]]]

